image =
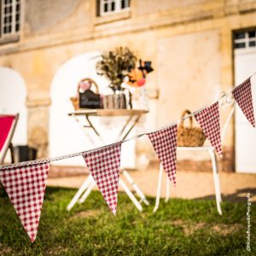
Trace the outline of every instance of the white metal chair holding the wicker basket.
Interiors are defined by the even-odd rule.
[[[227,127],[230,123],[230,119],[235,112],[235,105],[234,101],[230,100],[228,101],[227,96],[226,96],[226,102],[223,104],[229,104],[231,105],[230,113],[224,123],[224,127],[221,133],[221,141],[224,141],[224,136],[227,131]],[[191,150],[191,151],[207,151],[212,160],[212,175],[213,175],[213,183],[214,183],[214,189],[215,189],[215,198],[216,198],[216,205],[217,205],[217,210],[218,214],[222,215],[222,210],[220,203],[222,202],[221,199],[221,192],[220,192],[220,186],[219,186],[219,178],[218,178],[218,165],[217,165],[217,159],[216,159],[216,154],[215,154],[215,149],[212,147],[207,147],[207,146],[202,146],[202,147],[177,147],[177,150]],[[160,204],[160,192],[161,192],[161,183],[162,183],[162,176],[163,176],[163,167],[160,165],[160,171],[159,171],[159,179],[158,179],[158,187],[157,187],[157,192],[156,192],[156,201],[155,201],[155,206],[153,212],[156,212],[159,204]],[[170,198],[170,181],[169,178],[166,176],[166,202]]]

